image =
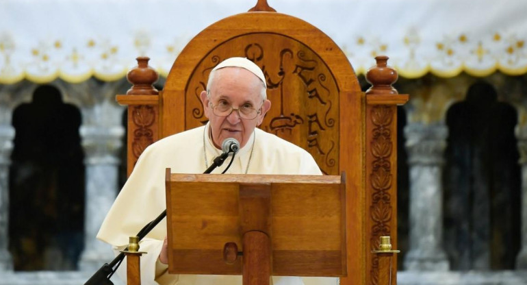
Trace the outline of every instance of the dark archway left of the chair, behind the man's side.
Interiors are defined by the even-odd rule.
[[[60,91],[39,86],[14,110],[10,251],[16,271],[74,270],[83,249],[81,113]]]

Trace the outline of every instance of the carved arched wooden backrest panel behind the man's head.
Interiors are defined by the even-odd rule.
[[[207,121],[199,94],[206,88],[211,69],[233,56],[252,60],[266,75],[272,107],[261,129],[303,147],[324,173],[338,175],[337,82],[320,56],[287,36],[245,34],[222,42],[205,55],[185,88],[185,129]]]

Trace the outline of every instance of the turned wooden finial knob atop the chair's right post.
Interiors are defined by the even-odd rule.
[[[366,90],[367,95],[389,95],[398,94],[397,90],[391,86],[397,79],[397,71],[387,66],[388,57],[379,55],[375,58],[377,64],[368,69],[366,81],[372,84],[370,89]]]

